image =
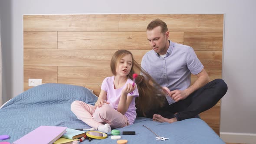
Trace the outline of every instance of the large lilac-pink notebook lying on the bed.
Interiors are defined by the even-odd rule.
[[[40,126],[12,144],[53,144],[66,133],[66,129],[66,127]]]

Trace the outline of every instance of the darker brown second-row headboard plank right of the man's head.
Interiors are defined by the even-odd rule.
[[[222,51],[223,33],[184,33],[184,45],[194,50]]]

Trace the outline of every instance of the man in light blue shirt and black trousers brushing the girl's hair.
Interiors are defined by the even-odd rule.
[[[194,49],[171,42],[169,36],[167,25],[162,20],[156,19],[148,24],[147,37],[152,50],[143,56],[141,67],[161,86],[166,86],[168,95],[174,100],[173,104],[166,102],[161,115],[154,114],[153,120],[172,123],[194,118],[212,108],[226,94],[227,85],[222,79],[209,82]],[[197,76],[193,85],[190,85],[191,73]],[[174,115],[164,118],[163,111]]]

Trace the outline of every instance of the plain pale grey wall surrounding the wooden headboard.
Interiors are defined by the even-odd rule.
[[[256,0],[0,0],[3,102],[23,92],[23,14],[61,13],[224,13],[221,137],[256,141]]]

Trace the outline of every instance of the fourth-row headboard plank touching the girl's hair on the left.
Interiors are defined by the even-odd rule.
[[[108,76],[112,76],[110,67],[58,66],[58,83],[101,85]]]

